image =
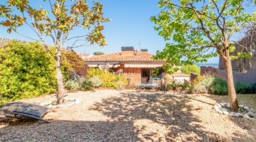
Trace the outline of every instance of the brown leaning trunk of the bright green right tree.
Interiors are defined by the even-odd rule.
[[[225,57],[227,58],[223,60],[225,64],[226,78],[228,83],[228,95],[230,100],[230,107],[231,107],[231,110],[233,110],[234,112],[238,112],[239,106],[238,106],[238,100],[235,93],[233,71],[232,71],[231,59],[228,51],[225,51]]]

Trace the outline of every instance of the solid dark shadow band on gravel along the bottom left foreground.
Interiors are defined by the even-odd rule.
[[[0,141],[139,141],[133,122],[56,120],[0,129]]]

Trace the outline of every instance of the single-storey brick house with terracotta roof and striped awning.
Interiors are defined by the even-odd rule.
[[[122,47],[121,52],[84,58],[90,68],[103,69],[114,74],[123,74],[129,85],[159,85],[166,71],[166,61],[152,59],[147,49],[137,51],[134,47]]]

